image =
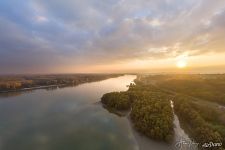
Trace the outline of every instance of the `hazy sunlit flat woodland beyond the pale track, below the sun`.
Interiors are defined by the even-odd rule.
[[[157,86],[176,93],[225,105],[225,75],[159,75],[149,76]]]

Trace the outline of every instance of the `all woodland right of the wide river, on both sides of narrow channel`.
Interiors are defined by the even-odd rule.
[[[103,95],[102,103],[116,110],[130,109],[135,129],[151,139],[173,139],[174,102],[182,128],[199,143],[225,148],[225,75],[138,75],[126,92]],[[205,144],[206,143],[206,144]]]

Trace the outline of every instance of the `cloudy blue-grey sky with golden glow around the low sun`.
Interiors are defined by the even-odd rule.
[[[0,74],[225,72],[225,0],[0,0]]]

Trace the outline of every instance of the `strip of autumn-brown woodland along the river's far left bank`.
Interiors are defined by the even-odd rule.
[[[59,75],[2,75],[0,92],[11,92],[53,86],[76,86],[86,82],[119,77],[123,74],[59,74]]]

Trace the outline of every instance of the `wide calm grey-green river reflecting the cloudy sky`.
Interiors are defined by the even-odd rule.
[[[126,91],[125,75],[76,87],[0,97],[0,150],[166,150],[105,110],[104,93]]]

